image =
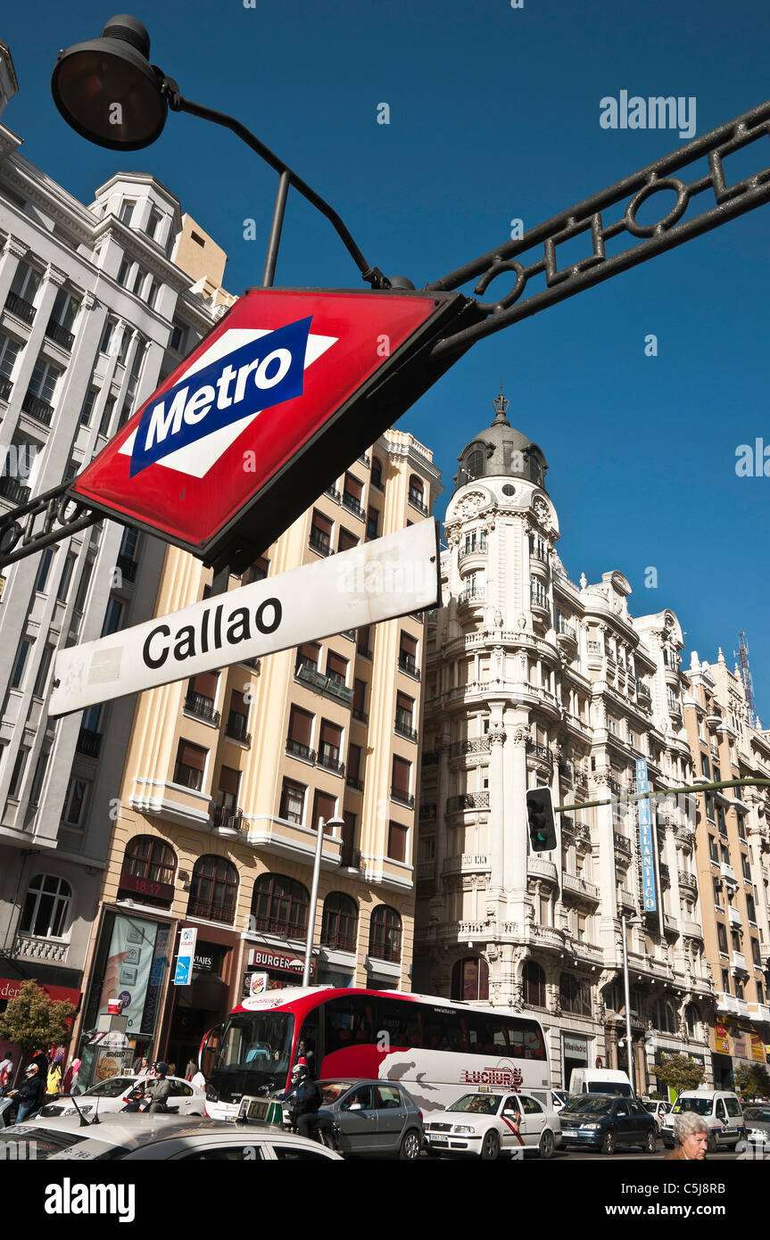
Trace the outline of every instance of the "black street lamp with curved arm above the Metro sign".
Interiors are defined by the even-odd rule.
[[[167,77],[156,64],[150,64],[149,55],[150,36],[141,22],[129,14],[110,17],[98,38],[73,43],[61,51],[51,78],[51,92],[67,124],[98,146],[118,151],[140,150],[160,138],[169,108],[171,112],[187,112],[192,117],[223,125],[242,138],[279,174],[262,277],[263,289],[273,285],[290,186],[329,219],[358,267],[362,279],[373,289],[414,289],[405,277],[388,280],[379,268],[371,267],[337,212],[315,190],[234,117],[182,98],[174,78]]]

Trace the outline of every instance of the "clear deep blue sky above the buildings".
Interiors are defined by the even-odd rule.
[[[505,241],[512,218],[532,227],[683,145],[671,130],[603,129],[603,97],[692,95],[701,135],[770,94],[759,0],[164,0],[135,11],[184,94],[253,128],[332,202],[370,262],[418,288]],[[122,167],[153,172],[227,250],[226,286],[258,284],[264,246],[243,239],[243,221],[265,232],[275,179],[236,138],[172,115],[155,146],[122,156],[60,119],[56,52],[109,16],[91,0],[6,6],[0,36],[20,81],[6,124],[86,202]],[[379,103],[389,125],[377,124]],[[770,143],[759,145],[753,170],[770,164]],[[766,724],[770,477],[737,477],[735,449],[770,444],[769,233],[770,206],[477,343],[402,422],[435,453],[443,512],[502,378],[510,419],[548,459],[573,579],[620,569],[632,611],[673,608],[702,658],[723,646],[730,661],[745,629]],[[296,197],[277,284],[358,286]],[[657,589],[645,588],[648,565]]]

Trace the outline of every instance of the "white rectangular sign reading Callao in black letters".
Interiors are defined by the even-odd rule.
[[[317,564],[60,650],[48,714],[391,620],[435,606],[439,596],[438,523],[429,518]],[[329,687],[339,692],[335,686]]]

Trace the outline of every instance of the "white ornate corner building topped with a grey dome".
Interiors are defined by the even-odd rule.
[[[657,804],[656,913],[644,914],[636,760],[650,787],[692,785],[676,615],[632,616],[614,570],[575,584],[542,449],[507,418],[462,449],[445,517],[443,605],[427,634],[413,988],[528,1011],[554,1087],[627,1070],[622,918],[640,1095],[665,1054],[710,1084],[714,987],[694,858],[696,797]],[[557,848],[531,853],[524,792],[554,805]],[[694,789],[693,789],[694,791]]]

